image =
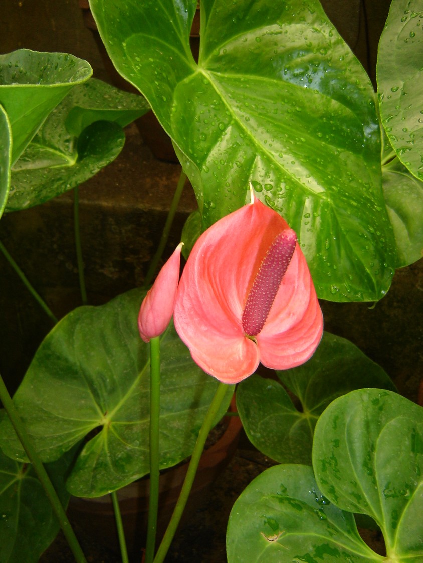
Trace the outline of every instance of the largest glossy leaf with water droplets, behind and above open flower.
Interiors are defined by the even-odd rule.
[[[297,232],[319,297],[380,299],[395,266],[367,74],[318,0],[91,0],[118,71],[146,96],[190,177],[202,229],[249,201]]]

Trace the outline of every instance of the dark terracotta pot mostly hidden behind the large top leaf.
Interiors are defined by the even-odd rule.
[[[127,92],[139,93],[139,91],[136,90],[136,88],[132,84],[126,82],[126,80],[121,77],[121,75],[114,68],[113,63],[109,58],[107,51],[105,50],[102,39],[100,39],[100,34],[94,21],[94,17],[92,17],[88,0],[78,0],[78,3],[82,11],[85,26],[90,30],[95,39],[95,42],[100,51],[100,55],[102,56],[104,68],[109,74],[109,77],[111,78],[114,86],[121,88],[121,90],[126,90]],[[199,6],[197,6],[197,11],[192,23],[190,44],[193,56],[195,60],[198,61],[200,50]],[[144,142],[151,149],[153,155],[155,155],[156,158],[160,160],[166,160],[167,162],[179,163],[169,135],[164,131],[152,111],[148,111],[146,115],[143,115],[139,119],[136,119],[135,123],[139,129],[140,135],[143,137]]]

